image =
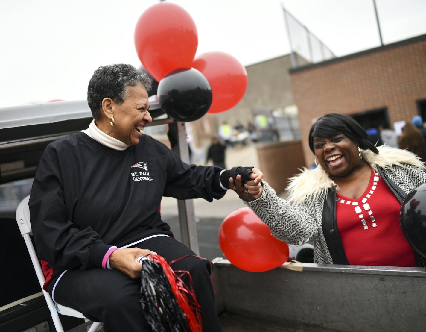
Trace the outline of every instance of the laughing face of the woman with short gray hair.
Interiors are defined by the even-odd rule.
[[[128,86],[127,96],[121,105],[111,101],[110,111],[115,125],[109,128],[108,134],[128,145],[138,144],[141,130],[153,121],[149,108],[148,92],[143,84]]]

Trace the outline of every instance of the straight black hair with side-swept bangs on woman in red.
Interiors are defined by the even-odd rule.
[[[368,141],[368,134],[361,125],[349,115],[331,113],[322,116],[309,130],[309,147],[314,151],[314,137],[331,139],[336,135],[345,134],[363,150],[379,153],[377,148]]]

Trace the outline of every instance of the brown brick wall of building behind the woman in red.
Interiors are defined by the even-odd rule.
[[[291,83],[305,161],[311,165],[308,133],[315,118],[381,107],[387,107],[391,124],[417,115],[416,101],[426,98],[426,35],[296,69]]]

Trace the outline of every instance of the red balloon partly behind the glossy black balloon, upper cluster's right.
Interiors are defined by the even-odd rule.
[[[247,72],[232,55],[224,52],[204,53],[194,59],[192,66],[207,78],[212,87],[213,101],[208,113],[225,112],[244,96]]]

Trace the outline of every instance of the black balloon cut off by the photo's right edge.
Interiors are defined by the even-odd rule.
[[[426,183],[403,200],[399,219],[407,241],[415,251],[426,257]]]

